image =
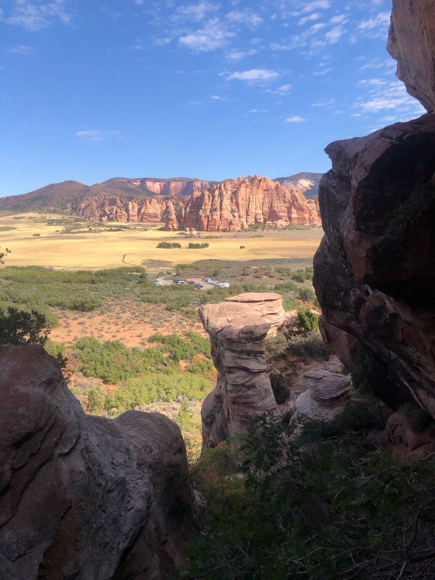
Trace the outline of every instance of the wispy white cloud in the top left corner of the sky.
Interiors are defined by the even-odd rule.
[[[67,12],[64,0],[45,3],[15,0],[9,16],[4,17],[0,13],[0,19],[7,24],[23,26],[31,32],[36,32],[48,28],[56,19],[63,24],[71,24],[73,16]]]

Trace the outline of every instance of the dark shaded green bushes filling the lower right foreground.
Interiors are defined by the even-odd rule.
[[[433,578],[434,458],[403,465],[372,448],[373,403],[357,401],[327,430],[302,422],[298,440],[294,424],[264,414],[233,461],[227,443],[203,451],[191,475],[208,529],[183,578]],[[236,462],[248,470],[234,473]]]

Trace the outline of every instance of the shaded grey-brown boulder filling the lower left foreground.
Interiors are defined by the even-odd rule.
[[[0,346],[0,577],[158,580],[197,500],[164,415],[88,416],[41,346]]]

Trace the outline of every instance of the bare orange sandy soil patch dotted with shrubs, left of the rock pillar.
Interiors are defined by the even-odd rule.
[[[122,306],[110,306],[104,314],[78,313],[72,310],[56,312],[59,326],[50,332],[50,339],[60,342],[76,342],[82,336],[95,336],[100,341],[122,340],[126,346],[150,346],[148,336],[160,332],[176,332],[183,336],[186,331],[194,331],[202,336],[206,332],[197,316],[172,314],[164,306],[147,305],[134,300]],[[139,315],[139,316],[138,316]]]

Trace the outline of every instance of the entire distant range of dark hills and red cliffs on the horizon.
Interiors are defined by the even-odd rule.
[[[298,173],[281,177],[282,183],[259,175],[223,182],[114,177],[93,186],[66,181],[1,198],[0,211],[72,212],[101,222],[164,222],[168,231],[241,231],[252,224],[309,226],[320,224],[313,200],[319,177]]]

